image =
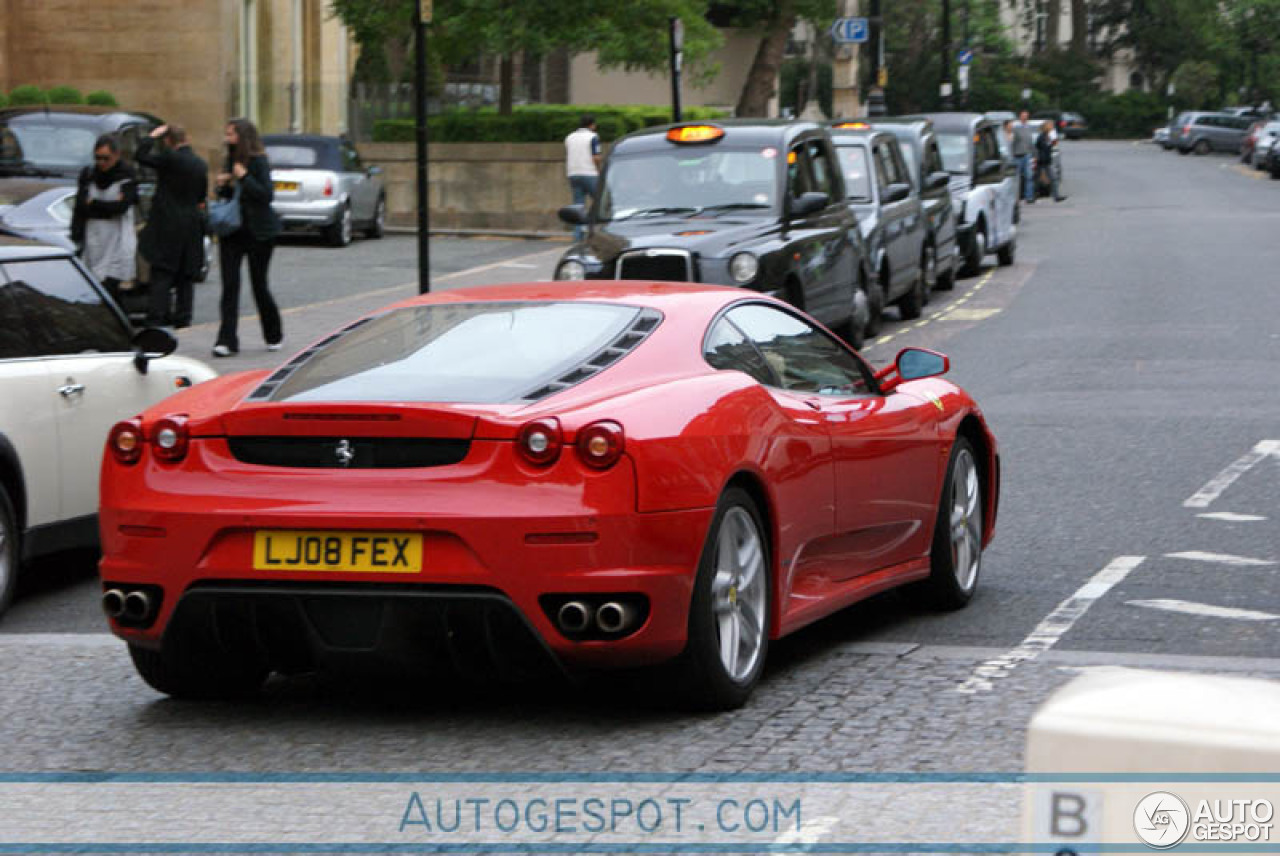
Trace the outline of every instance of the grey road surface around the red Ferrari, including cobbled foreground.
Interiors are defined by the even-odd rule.
[[[751,702],[716,717],[630,679],[394,702],[287,682],[193,705],[138,681],[90,566],[64,557],[0,621],[3,766],[1016,770],[1030,711],[1080,668],[1280,676],[1280,183],[1133,143],[1068,143],[1065,171],[1066,202],[1024,209],[1014,266],[868,348],[946,351],[1000,439],[998,531],[968,609],[890,594],[845,610],[776,645]],[[434,246],[452,284],[549,275],[558,248]],[[287,306],[412,293],[406,239],[285,258]]]

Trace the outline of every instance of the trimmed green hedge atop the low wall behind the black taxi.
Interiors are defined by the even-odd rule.
[[[602,139],[617,139],[632,131],[671,122],[671,111],[655,106],[527,105],[511,115],[490,109],[456,110],[428,119],[428,136],[434,142],[561,142],[577,129],[584,114],[595,116]],[[719,119],[723,110],[691,107],[686,119]],[[380,119],[374,123],[374,142],[412,142],[412,119]]]

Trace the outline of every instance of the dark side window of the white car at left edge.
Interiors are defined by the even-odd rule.
[[[120,317],[69,258],[10,262],[5,270],[38,356],[132,349]]]

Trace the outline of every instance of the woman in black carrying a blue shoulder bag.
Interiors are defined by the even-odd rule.
[[[268,284],[268,269],[275,237],[280,234],[280,218],[271,209],[275,196],[271,164],[266,160],[262,137],[248,119],[227,123],[227,161],[218,174],[218,196],[229,200],[238,193],[241,228],[218,239],[218,264],[223,273],[221,326],[218,329],[215,357],[239,353],[236,325],[239,321],[241,262],[248,256],[248,279],[253,303],[262,322],[268,351],[279,351],[284,340],[280,310],[275,306]]]

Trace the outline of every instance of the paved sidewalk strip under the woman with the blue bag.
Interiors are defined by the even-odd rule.
[[[436,276],[431,280],[431,289],[449,290],[467,285],[497,285],[550,279],[556,261],[563,251],[562,242],[548,242],[547,248],[538,252]],[[216,288],[216,284],[214,287]],[[275,352],[266,349],[266,344],[262,342],[262,328],[256,313],[241,315],[241,352],[234,357],[211,356],[218,338],[216,321],[196,324],[177,331],[178,353],[209,363],[220,375],[252,369],[274,369],[292,358],[308,343],[333,333],[343,324],[416,296],[417,281],[413,280],[347,297],[283,308],[280,315],[284,320],[284,347]],[[252,301],[247,301],[247,303],[252,306]]]

